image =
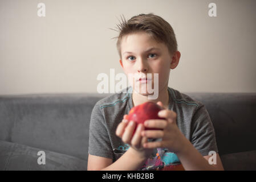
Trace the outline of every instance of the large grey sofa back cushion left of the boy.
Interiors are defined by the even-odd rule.
[[[100,94],[1,96],[0,140],[86,160],[91,111],[100,98]]]

